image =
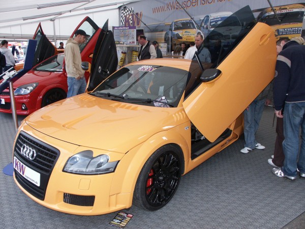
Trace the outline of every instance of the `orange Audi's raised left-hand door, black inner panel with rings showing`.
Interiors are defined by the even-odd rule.
[[[105,22],[96,43],[87,91],[95,89],[102,81],[117,69],[117,52],[114,37]]]

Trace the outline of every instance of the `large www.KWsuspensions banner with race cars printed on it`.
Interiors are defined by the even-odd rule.
[[[270,0],[270,3],[276,14],[267,0],[143,0],[122,6],[120,22],[122,26],[142,28],[147,40],[166,43],[167,53],[182,43],[190,46],[197,34],[206,37],[228,17],[230,26],[243,26],[231,14],[247,5],[257,21],[273,28],[277,39],[301,36],[305,0]],[[224,36],[221,40],[229,43]]]

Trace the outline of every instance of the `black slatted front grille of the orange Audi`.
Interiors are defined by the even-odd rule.
[[[30,160],[21,154],[21,147],[23,145],[36,151],[37,155],[35,159]],[[15,142],[14,156],[25,166],[32,168],[40,174],[40,186],[38,187],[32,182],[29,182],[14,169],[18,183],[32,195],[44,200],[52,169],[59,157],[59,150],[21,131]]]

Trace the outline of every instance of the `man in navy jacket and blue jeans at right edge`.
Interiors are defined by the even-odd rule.
[[[284,118],[283,149],[285,154],[282,168],[273,168],[272,173],[290,180],[299,175],[305,178],[305,45],[296,41],[287,42],[277,58],[273,82],[275,113]],[[285,105],[285,114],[282,109]],[[299,129],[301,148],[299,152]]]

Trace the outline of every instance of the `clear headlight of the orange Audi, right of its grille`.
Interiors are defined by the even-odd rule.
[[[107,174],[114,171],[117,163],[118,161],[109,162],[106,154],[93,157],[93,152],[86,150],[70,157],[64,171],[84,175]]]

